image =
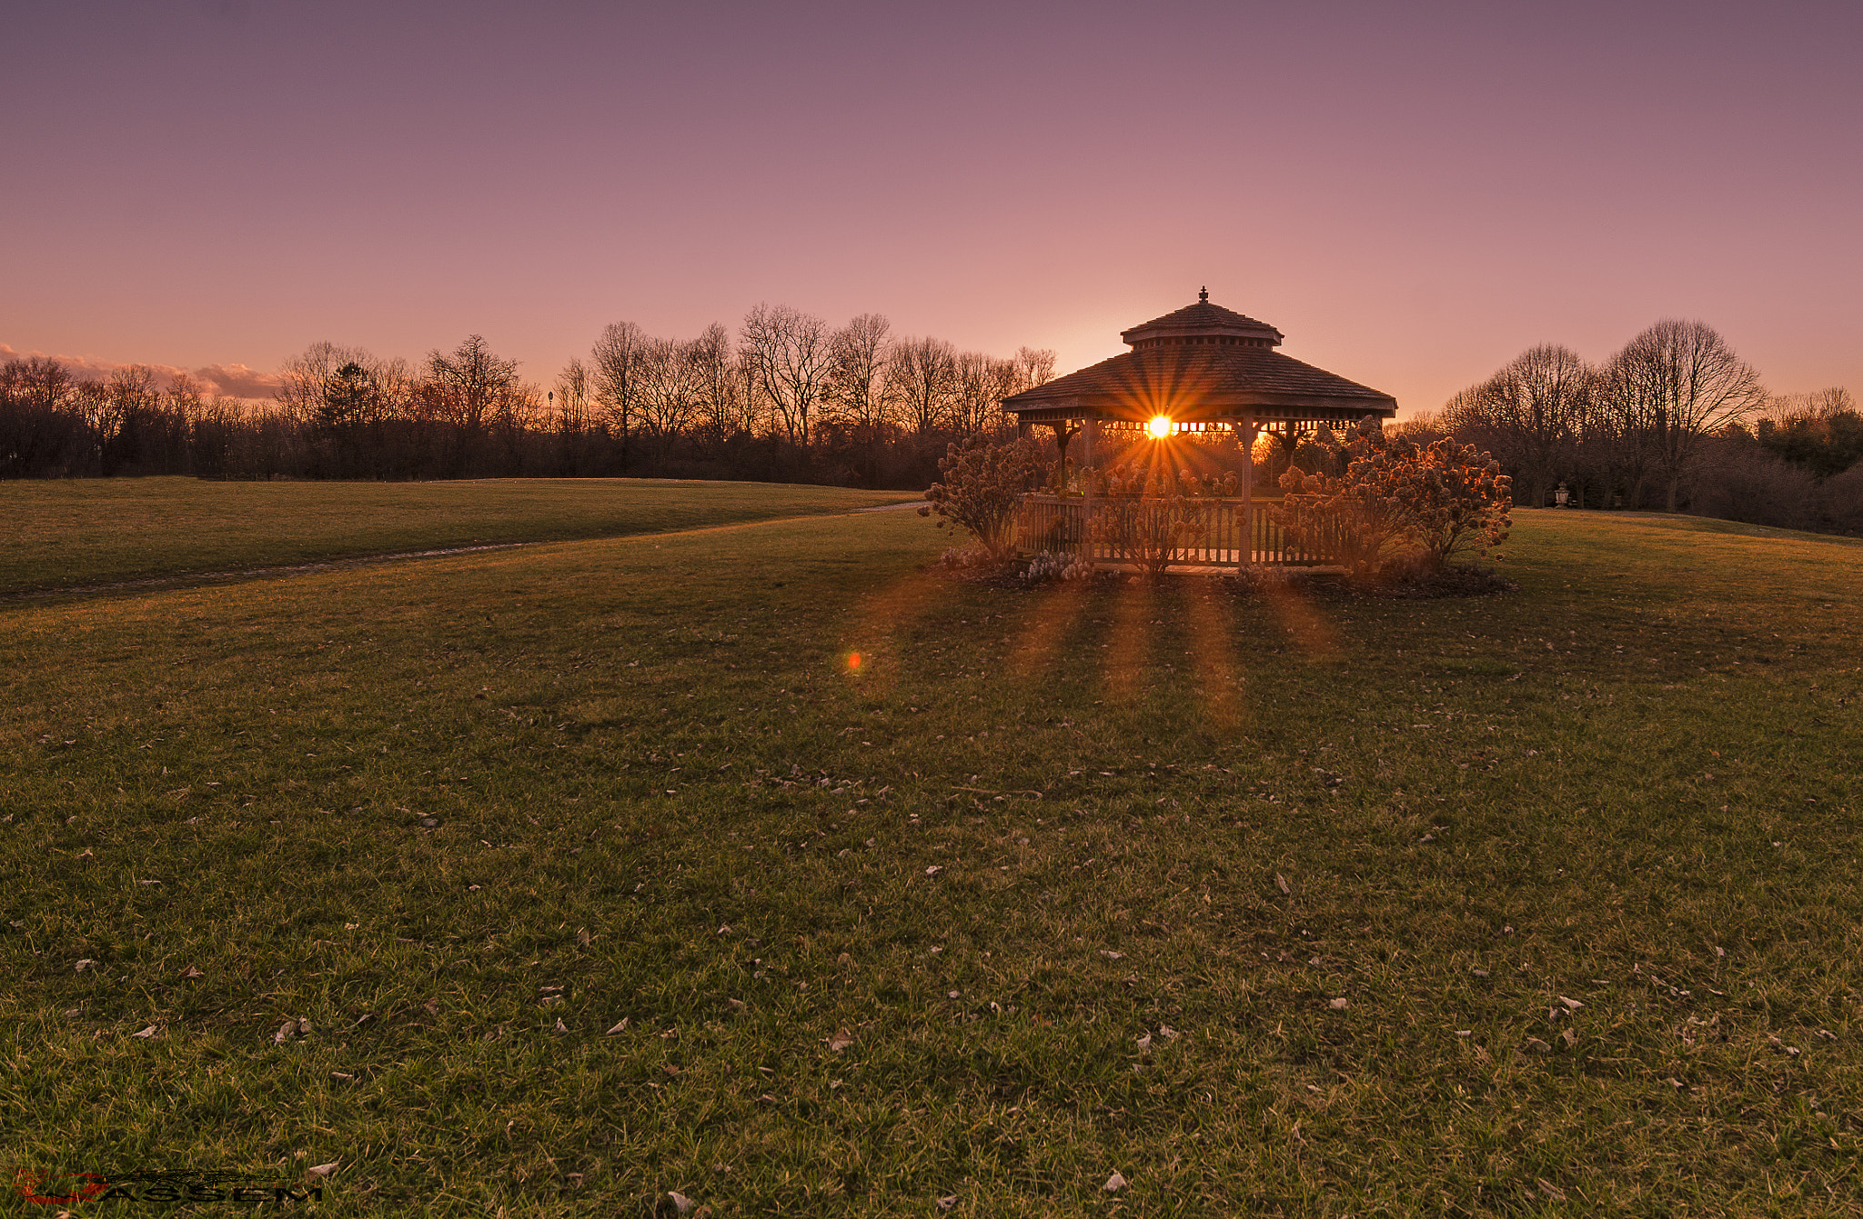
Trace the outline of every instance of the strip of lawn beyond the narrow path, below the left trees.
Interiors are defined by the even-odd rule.
[[[0,482],[0,594],[360,555],[617,538],[915,499],[769,482]]]

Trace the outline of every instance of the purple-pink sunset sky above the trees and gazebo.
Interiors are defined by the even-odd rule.
[[[0,359],[227,393],[758,301],[1058,372],[1196,300],[1435,409],[1701,318],[1863,393],[1863,4],[13,0]]]

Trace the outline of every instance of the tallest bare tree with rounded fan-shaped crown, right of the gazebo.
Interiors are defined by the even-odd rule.
[[[1740,422],[1766,398],[1759,372],[1707,322],[1666,318],[1611,357],[1608,385],[1675,512],[1703,439]]]

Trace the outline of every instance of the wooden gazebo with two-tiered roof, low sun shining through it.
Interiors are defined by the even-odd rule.
[[[1252,454],[1263,432],[1293,449],[1300,435],[1326,424],[1356,424],[1366,415],[1390,419],[1397,400],[1343,376],[1304,365],[1274,348],[1284,335],[1256,318],[1209,303],[1209,290],[1192,305],[1120,333],[1133,350],[1002,400],[1015,415],[1017,434],[1032,426],[1054,430],[1066,469],[1094,465],[1103,432],[1142,432],[1155,439],[1198,432],[1230,432],[1243,454]],[[1289,549],[1265,517],[1254,514],[1252,462],[1243,460],[1241,495],[1218,506],[1213,532],[1181,556],[1194,566],[1250,562],[1315,564],[1323,555]],[[1094,517],[1094,491],[1081,497],[1030,495],[1023,530],[1060,534],[1084,545]],[[1246,542],[1244,542],[1246,540]],[[1088,558],[1099,558],[1088,547]]]

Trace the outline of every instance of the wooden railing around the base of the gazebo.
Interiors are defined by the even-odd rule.
[[[1163,556],[1172,568],[1243,568],[1248,564],[1276,568],[1315,568],[1339,562],[1338,523],[1315,521],[1313,529],[1302,530],[1317,545],[1302,545],[1280,521],[1272,517],[1269,501],[1250,502],[1243,499],[1187,501],[1190,510],[1187,529],[1174,529],[1166,519],[1148,519],[1142,514],[1172,512],[1157,501],[1133,497],[1095,495],[1092,499],[1094,516],[1105,512],[1127,514],[1123,529],[1103,525],[1099,540],[1090,538],[1086,506],[1077,495],[1025,495],[1015,512],[1015,545],[1027,553],[1054,551],[1090,558],[1095,564],[1133,564],[1133,536],[1174,538],[1170,555]],[[1185,519],[1183,508],[1177,519]],[[1110,536],[1108,536],[1110,534]],[[1127,538],[1120,545],[1116,538]],[[1246,536],[1246,542],[1244,542]]]

